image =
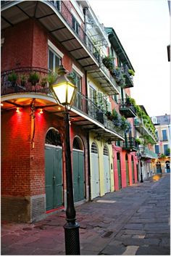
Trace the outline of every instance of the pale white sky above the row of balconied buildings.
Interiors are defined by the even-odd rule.
[[[149,116],[170,115],[170,12],[167,0],[89,0],[117,33],[135,70],[130,94]]]

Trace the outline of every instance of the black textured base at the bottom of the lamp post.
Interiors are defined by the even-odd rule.
[[[67,222],[64,224],[64,239],[66,255],[80,255],[80,237],[78,223]]]

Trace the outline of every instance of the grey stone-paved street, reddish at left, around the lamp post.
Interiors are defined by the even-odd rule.
[[[81,255],[170,255],[170,174],[76,207]],[[65,212],[1,225],[1,255],[64,255]]]

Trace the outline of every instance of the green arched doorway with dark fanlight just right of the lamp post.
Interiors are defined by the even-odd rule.
[[[78,202],[85,198],[84,148],[78,136],[73,141],[72,173],[74,201]]]

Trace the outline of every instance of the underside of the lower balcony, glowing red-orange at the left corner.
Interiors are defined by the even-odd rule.
[[[28,94],[11,94],[7,96],[2,96],[1,103],[3,104],[3,106],[1,106],[1,112],[6,112],[9,110],[15,111],[17,110],[17,107],[19,107],[20,112],[22,112],[25,107],[31,107],[31,105],[34,104],[37,113],[40,112],[40,110],[42,109],[44,112],[49,112],[51,114],[57,115],[58,118],[64,117],[64,108],[62,107],[62,105],[57,104],[54,98],[50,98],[49,96],[42,94],[30,94],[30,97],[28,96]],[[124,138],[120,136],[120,134],[105,128],[104,125],[99,123],[97,120],[94,120],[85,112],[75,109],[75,107],[72,107],[72,109],[70,110],[70,121],[74,125],[80,126],[81,129],[85,129],[86,131],[95,131],[96,133],[99,133],[99,135],[101,135],[101,138],[105,139],[106,141],[124,141]]]

